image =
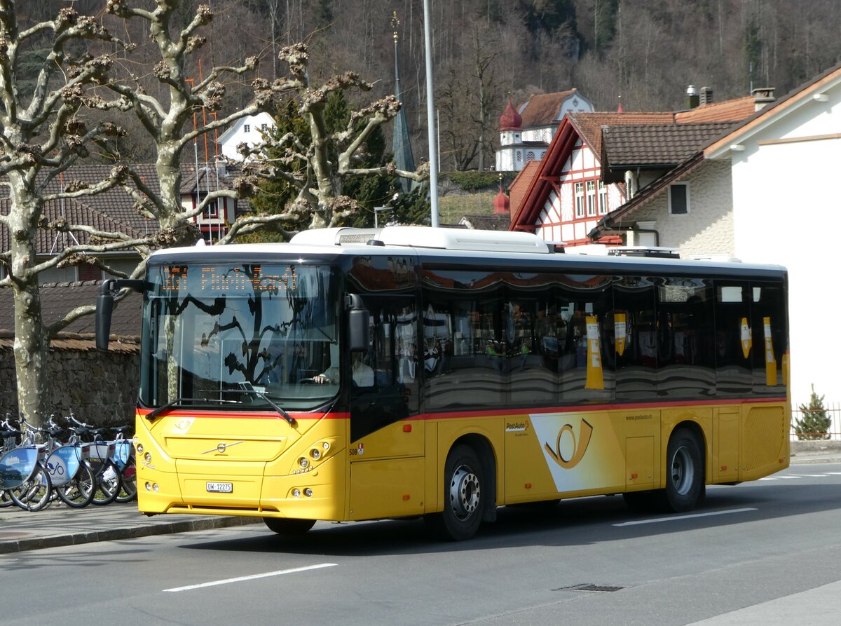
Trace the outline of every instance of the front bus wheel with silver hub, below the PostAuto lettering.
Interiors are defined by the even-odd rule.
[[[438,538],[469,539],[482,523],[485,497],[479,456],[467,445],[456,446],[444,465],[444,510],[427,516],[426,521]]]

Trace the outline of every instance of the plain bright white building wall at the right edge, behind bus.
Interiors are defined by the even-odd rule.
[[[823,109],[815,114],[815,108]],[[810,111],[811,109],[811,111]],[[832,117],[834,114],[834,120]],[[775,142],[832,135],[841,105],[807,103],[733,152],[735,253],[745,261],[776,263],[789,270],[791,392],[808,403],[810,385],[826,401],[841,401],[835,337],[829,329],[841,310],[837,274],[838,194],[833,181],[841,162],[841,139]],[[757,145],[756,141],[770,141]]]

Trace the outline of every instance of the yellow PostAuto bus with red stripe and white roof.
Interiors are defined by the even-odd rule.
[[[423,516],[621,493],[685,512],[789,464],[778,266],[561,253],[529,233],[394,226],[162,250],[143,293],[148,515]],[[655,256],[651,256],[654,254]]]

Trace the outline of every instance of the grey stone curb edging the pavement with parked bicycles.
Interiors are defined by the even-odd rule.
[[[116,541],[118,539],[133,539],[151,537],[152,535],[170,533],[189,533],[194,530],[213,530],[214,528],[228,528],[230,526],[244,526],[246,524],[262,523],[261,517],[209,517],[208,519],[184,520],[149,524],[145,526],[130,526],[110,530],[93,530],[90,532],[76,532],[50,535],[49,537],[28,537],[11,539],[0,542],[0,554],[12,554],[27,550],[58,548],[66,545],[93,544],[98,541]]]

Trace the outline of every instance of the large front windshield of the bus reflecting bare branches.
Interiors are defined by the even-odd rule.
[[[336,395],[338,271],[304,263],[151,266],[140,401],[308,410]]]

